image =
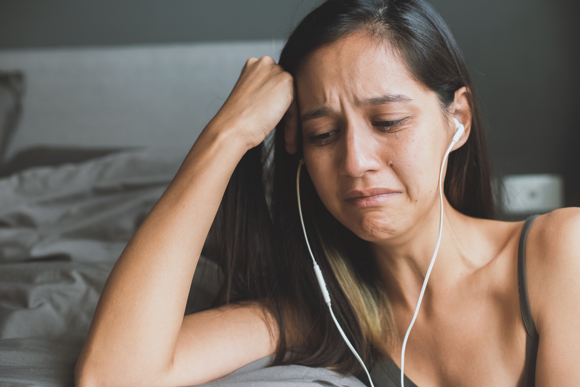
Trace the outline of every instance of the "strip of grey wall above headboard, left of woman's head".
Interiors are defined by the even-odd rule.
[[[0,48],[279,38],[288,34],[293,20],[299,20],[316,3],[2,0]]]

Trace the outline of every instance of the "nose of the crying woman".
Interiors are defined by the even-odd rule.
[[[378,171],[380,158],[371,133],[364,125],[349,125],[343,137],[343,154],[339,173],[344,176],[360,178],[365,172]]]

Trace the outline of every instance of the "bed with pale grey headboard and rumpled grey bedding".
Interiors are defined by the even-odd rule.
[[[26,79],[26,88],[12,85],[4,111],[12,115],[0,121],[0,387],[74,385],[96,303],[125,244],[245,58],[276,55],[280,46],[0,52],[0,70]],[[211,308],[219,283],[218,265],[201,256],[185,313]],[[323,368],[264,368],[267,360],[211,385],[364,385]]]

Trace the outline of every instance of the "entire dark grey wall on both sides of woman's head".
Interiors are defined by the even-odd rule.
[[[316,0],[3,0],[0,49],[287,37]],[[580,206],[580,2],[433,0],[465,53],[500,173],[561,173]]]

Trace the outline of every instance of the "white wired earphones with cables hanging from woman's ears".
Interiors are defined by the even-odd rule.
[[[411,333],[411,328],[413,327],[413,324],[415,324],[417,314],[419,313],[419,307],[421,306],[423,294],[425,293],[425,288],[427,287],[427,281],[429,281],[429,276],[431,274],[431,270],[433,269],[433,264],[435,263],[435,258],[437,257],[437,251],[439,250],[439,244],[441,243],[441,232],[443,232],[443,188],[442,188],[442,182],[441,182],[441,180],[443,179],[443,166],[445,165],[445,160],[447,160],[447,156],[451,152],[451,149],[459,141],[459,138],[461,138],[461,136],[463,135],[463,132],[465,132],[465,126],[463,126],[461,124],[461,122],[459,122],[456,118],[454,118],[453,120],[455,122],[455,135],[453,136],[453,139],[451,140],[451,144],[449,144],[449,147],[447,148],[447,151],[445,152],[445,155],[443,156],[443,162],[441,162],[441,168],[439,170],[439,184],[438,184],[438,186],[439,186],[439,201],[440,201],[440,205],[441,205],[441,212],[440,212],[440,216],[439,216],[439,233],[437,235],[437,244],[435,245],[435,251],[433,252],[431,262],[429,263],[429,268],[427,269],[427,273],[425,274],[425,280],[423,280],[423,286],[421,287],[421,292],[419,294],[417,306],[415,307],[415,313],[413,314],[413,318],[411,319],[411,324],[409,324],[409,327],[407,328],[407,333],[405,334],[405,338],[403,339],[403,348],[401,349],[401,387],[404,387],[404,385],[405,385],[404,369],[405,369],[405,347],[407,346],[407,339],[409,338],[409,333]],[[314,254],[312,254],[312,249],[310,248],[310,243],[308,242],[308,236],[306,235],[306,227],[304,226],[304,219],[302,218],[302,206],[300,205],[300,169],[302,169],[302,164],[304,164],[304,160],[300,160],[300,162],[298,164],[298,171],[296,172],[296,194],[298,196],[298,212],[300,214],[300,224],[302,225],[302,232],[304,233],[304,238],[306,240],[306,246],[308,247],[308,252],[310,253],[310,257],[312,258],[312,262],[314,264],[314,273],[316,273],[316,279],[318,280],[318,285],[320,286],[320,290],[322,292],[322,297],[324,298],[324,302],[326,302],[328,305],[328,310],[330,311],[332,320],[334,321],[336,328],[338,328],[340,335],[342,336],[346,345],[349,347],[349,349],[353,353],[354,357],[356,357],[358,362],[361,364],[362,368],[364,368],[364,371],[367,374],[368,380],[371,383],[371,387],[375,387],[375,385],[372,382],[371,375],[369,374],[369,372],[367,370],[367,366],[365,366],[361,357],[358,356],[356,349],[354,349],[353,345],[350,343],[349,339],[346,337],[345,332],[342,330],[342,327],[340,327],[340,324],[338,323],[334,313],[332,312],[332,304],[331,304],[330,294],[328,293],[326,283],[324,282],[324,277],[322,277],[322,271],[320,270],[320,266],[318,266],[316,259],[314,259]]]

